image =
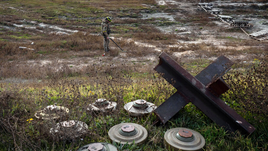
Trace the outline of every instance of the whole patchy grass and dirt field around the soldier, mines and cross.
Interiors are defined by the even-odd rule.
[[[72,150],[109,142],[108,130],[132,122],[148,131],[144,144],[116,145],[120,151],[167,151],[164,133],[185,127],[201,133],[204,150],[268,150],[268,41],[249,38],[186,0],[8,0],[0,1],[0,150]],[[267,0],[208,0],[247,33],[268,29]],[[110,52],[103,50],[101,22],[112,16]],[[24,47],[24,48],[20,48]],[[132,117],[125,103],[143,99],[159,106],[176,89],[154,67],[161,52],[195,76],[220,55],[235,62],[223,76],[231,89],[220,96],[255,126],[250,135],[228,133],[193,104],[165,125],[156,116]],[[111,113],[89,112],[96,99],[118,104]],[[40,120],[37,111],[64,106],[69,114]],[[60,121],[88,125],[79,137],[52,135]]]

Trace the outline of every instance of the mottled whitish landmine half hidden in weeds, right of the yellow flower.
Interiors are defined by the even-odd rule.
[[[54,128],[50,129],[50,133],[72,138],[82,135],[87,129],[86,123],[70,120],[57,123]]]

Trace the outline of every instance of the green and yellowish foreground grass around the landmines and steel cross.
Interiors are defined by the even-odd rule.
[[[204,62],[192,64],[203,64]],[[107,75],[106,75],[107,76]],[[74,79],[80,81],[77,85]],[[116,81],[114,81],[117,79]],[[136,81],[129,83],[129,81]],[[57,82],[56,82],[57,83]],[[43,129],[49,129],[49,121],[40,121],[34,118],[35,111],[44,108],[47,105],[57,103],[58,105],[66,106],[70,109],[68,119],[81,120],[87,123],[88,132],[94,135],[83,135],[83,141],[76,138],[75,141],[57,141],[54,144],[54,150],[76,150],[82,145],[90,142],[109,142],[113,143],[108,138],[108,130],[119,123],[133,122],[144,126],[148,131],[148,141],[141,145],[120,145],[115,144],[119,150],[148,150],[148,151],[165,151],[163,146],[164,133],[174,127],[186,127],[201,133],[206,140],[205,150],[266,150],[267,145],[267,126],[268,123],[260,123],[252,116],[243,114],[243,118],[255,126],[257,129],[252,135],[228,134],[223,128],[217,126],[206,115],[204,115],[193,104],[188,104],[180,112],[178,112],[169,122],[163,126],[152,126],[152,122],[156,120],[154,114],[139,118],[131,117],[126,114],[122,109],[124,103],[131,102],[137,99],[144,99],[149,102],[155,103],[159,106],[163,101],[170,97],[176,90],[168,84],[158,74],[149,73],[127,73],[110,75],[105,78],[92,77],[68,77],[63,79],[61,84],[53,84],[47,86],[20,86],[14,89],[12,84],[3,86],[1,91],[13,93],[13,99],[7,99],[8,102],[16,104],[6,111],[14,118],[19,118],[19,125],[17,129],[23,129],[27,132],[27,139],[20,140],[16,137],[17,143],[27,144],[30,142],[40,143],[43,150],[52,150],[53,143],[51,136],[40,133],[38,125],[42,122]],[[107,86],[104,86],[106,84]],[[96,98],[107,98],[110,101],[118,103],[119,110],[110,115],[95,115],[86,112],[84,109],[90,102]],[[228,93],[222,96],[223,99],[228,99]],[[13,102],[13,103],[12,103]],[[28,104],[26,103],[28,102]],[[19,103],[19,104],[18,104]],[[26,103],[26,104],[25,104]],[[234,106],[231,106],[234,108]],[[23,112],[24,109],[28,111],[26,114],[18,115],[17,113]],[[7,113],[7,112],[5,112]],[[1,115],[3,118],[7,115]],[[26,121],[29,118],[34,118],[31,123]],[[13,139],[9,133],[2,133],[1,140],[9,142],[13,146]],[[40,138],[35,140],[35,138]],[[2,150],[6,148],[6,144],[0,145]],[[48,148],[46,148],[46,147]],[[23,150],[30,150],[30,146],[23,146]]]

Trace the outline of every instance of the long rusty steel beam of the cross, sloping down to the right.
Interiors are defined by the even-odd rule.
[[[250,134],[255,130],[251,124],[238,115],[225,102],[216,97],[204,84],[188,73],[166,53],[163,52],[159,58],[160,61],[155,67],[155,70],[162,74],[177,89],[178,98],[187,98],[184,101],[177,99],[182,103],[176,101],[176,104],[173,104],[174,106],[178,106],[181,109],[181,106],[185,106],[186,102],[192,102],[205,115],[211,118],[211,120],[230,132],[240,130],[243,133]],[[170,100],[176,100],[175,96]],[[155,113],[158,118],[165,119],[163,118],[165,114],[160,112],[162,109],[164,108],[155,110]],[[170,109],[165,108],[165,111],[167,110],[170,111]],[[166,118],[165,120],[169,119]]]

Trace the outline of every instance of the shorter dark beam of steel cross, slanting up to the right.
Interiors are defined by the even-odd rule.
[[[221,55],[216,60],[211,62],[210,65],[208,65],[195,77],[205,86],[207,86],[212,93],[214,93],[216,96],[219,96],[225,91],[220,91],[222,89],[218,90],[216,88],[218,88],[218,86],[221,86],[225,88],[224,90],[227,91],[228,89],[226,89],[226,87],[229,86],[227,84],[225,86],[224,85],[222,86],[220,85],[221,83],[219,83],[216,80],[221,78],[231,68],[231,65],[233,64],[234,62],[230,61],[228,58]],[[214,89],[214,87],[216,88]],[[179,93],[177,92],[173,94],[169,99],[167,99],[164,103],[162,103],[160,106],[158,106],[158,108],[155,109],[154,111],[158,116],[158,120],[161,121],[161,123],[165,124],[170,118],[172,118],[177,112],[179,112],[181,108],[183,108],[186,104],[190,102],[189,100],[185,101],[184,100],[185,98],[186,97],[179,97]],[[186,104],[183,102],[185,102]],[[180,106],[177,107],[174,106],[174,104],[180,104]],[[169,109],[169,112],[166,112],[166,109]],[[155,123],[157,122],[155,121]]]

